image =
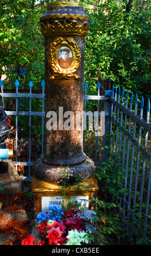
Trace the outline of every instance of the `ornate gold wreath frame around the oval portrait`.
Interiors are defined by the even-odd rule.
[[[58,52],[61,47],[70,48],[72,52],[72,63],[66,69],[61,68],[58,63]],[[48,63],[53,72],[50,80],[61,80],[62,78],[66,80],[79,80],[79,76],[76,73],[80,65],[80,59],[80,49],[73,38],[56,38],[51,43],[48,54]]]

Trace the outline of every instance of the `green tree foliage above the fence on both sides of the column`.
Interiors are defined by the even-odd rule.
[[[1,1],[0,69],[1,74],[5,72],[9,75],[11,71],[14,82],[16,69],[23,65],[28,69],[27,83],[37,81],[37,75],[39,81],[44,79],[44,39],[40,16],[47,9],[46,2]],[[134,0],[129,7],[127,1],[80,2],[91,18],[85,47],[88,93],[95,94],[97,70],[100,69],[117,86],[129,88],[143,96],[150,95],[151,3]]]

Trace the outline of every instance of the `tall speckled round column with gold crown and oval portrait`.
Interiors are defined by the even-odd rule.
[[[50,184],[61,184],[68,169],[68,182],[74,184],[74,175],[84,180],[93,176],[94,164],[83,152],[83,127],[65,130],[63,114],[72,111],[74,124],[76,113],[83,112],[85,36],[89,31],[90,18],[84,13],[83,5],[74,2],[53,2],[40,18],[45,36],[45,113],[46,124],[57,114],[57,129],[46,126],[45,154],[36,161],[34,179]],[[62,59],[62,52],[67,60]],[[61,57],[62,56],[62,57]],[[48,118],[47,118],[48,116]],[[80,124],[82,123],[82,117]],[[75,124],[76,125],[76,124]],[[42,183],[41,183],[42,184]]]

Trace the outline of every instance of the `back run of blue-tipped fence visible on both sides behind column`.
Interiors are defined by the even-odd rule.
[[[45,103],[45,82],[42,81],[41,86],[42,86],[42,93],[40,94],[35,94],[32,92],[32,87],[33,87],[33,83],[30,82],[29,83],[29,93],[22,93],[23,89],[20,89],[21,93],[19,92],[18,86],[19,86],[19,82],[18,80],[16,80],[15,82],[15,87],[16,87],[16,92],[15,93],[4,93],[4,89],[3,89],[3,82],[2,80],[0,80],[0,86],[1,86],[1,93],[0,95],[3,97],[3,100],[5,101],[6,98],[12,98],[15,100],[15,109],[14,111],[10,111],[10,110],[5,110],[6,114],[10,117],[15,117],[15,145],[14,145],[14,150],[15,150],[15,161],[14,166],[16,166],[16,170],[18,166],[23,165],[24,167],[28,167],[28,175],[24,178],[26,178],[26,180],[31,180],[32,179],[32,175],[30,172],[30,168],[34,165],[33,161],[31,160],[31,154],[32,154],[32,141],[31,141],[31,124],[32,124],[32,117],[41,117],[41,123],[39,124],[39,126],[41,126],[41,132],[42,132],[42,136],[41,136],[41,155],[43,154],[43,150],[44,150],[44,133],[45,133],[45,129],[44,129],[44,118],[45,118],[45,108],[44,108],[44,103]],[[99,102],[100,100],[106,100],[106,98],[104,96],[101,96],[99,94],[100,92],[100,84],[97,84],[97,94],[98,95],[86,95],[87,92],[87,83],[85,83],[85,95],[84,95],[84,111],[89,111],[89,109],[86,109],[86,100],[95,100],[98,103],[98,111],[99,111]],[[22,101],[21,104],[19,104],[18,100],[19,99],[29,99],[28,102],[27,101]],[[41,111],[33,111],[32,109],[32,100],[33,99],[41,99],[42,100],[42,107],[41,107]],[[25,104],[26,103],[26,104]],[[27,106],[28,105],[28,106]],[[20,109],[20,106],[22,109]],[[9,108],[11,108],[11,105],[9,105]],[[23,109],[28,108],[28,111],[24,111]],[[35,107],[34,107],[35,109]],[[18,130],[20,130],[20,127],[18,126],[18,117],[24,118],[24,117],[28,117],[28,126],[23,127],[24,130],[28,130],[28,135],[27,135],[27,139],[28,139],[28,156],[26,156],[26,158],[28,160],[22,160],[22,161],[18,161],[18,158],[23,159],[22,156],[18,157],[18,141],[20,141],[20,139],[22,139],[22,133],[20,132],[20,136],[18,137]],[[34,131],[33,131],[34,133]],[[86,131],[84,131],[84,136],[85,136]],[[34,138],[36,137],[36,133],[34,135]],[[94,136],[92,134],[92,140],[95,139],[95,148],[93,148],[93,152],[92,152],[92,159],[95,162],[96,166],[100,166],[101,164],[101,159],[100,156],[98,155],[97,149],[99,147],[99,141],[100,143],[102,143],[102,138],[98,137],[98,136]],[[85,141],[85,139],[84,139]],[[89,147],[90,148],[90,147]],[[86,145],[85,145],[85,149],[86,149]],[[90,151],[89,151],[90,154]]]

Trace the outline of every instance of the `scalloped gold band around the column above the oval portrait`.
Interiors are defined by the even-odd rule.
[[[83,22],[79,25],[78,21],[71,21],[70,23],[67,23],[64,21],[63,23],[59,22],[58,20],[53,21],[52,24],[50,24],[48,21],[46,24],[41,22],[41,31],[45,38],[48,38],[49,36],[60,36],[60,35],[79,35],[82,37],[85,37],[89,32],[90,25],[87,25],[87,22]]]

